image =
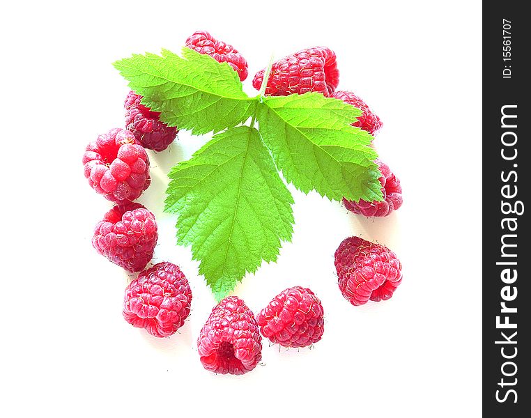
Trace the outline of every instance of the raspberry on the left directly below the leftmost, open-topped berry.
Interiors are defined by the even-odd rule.
[[[114,264],[139,272],[153,257],[157,244],[155,215],[139,203],[114,206],[94,229],[92,245]]]

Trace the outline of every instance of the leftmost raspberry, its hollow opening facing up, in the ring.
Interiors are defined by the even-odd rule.
[[[83,164],[91,187],[118,204],[134,201],[151,183],[146,150],[128,130],[99,135],[86,146]]]

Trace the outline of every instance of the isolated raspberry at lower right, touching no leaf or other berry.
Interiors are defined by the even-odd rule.
[[[339,290],[355,306],[389,299],[402,281],[397,255],[383,245],[346,238],[334,258]]]

